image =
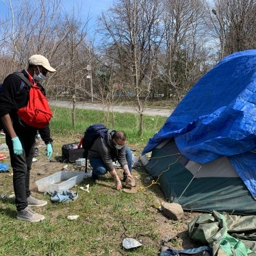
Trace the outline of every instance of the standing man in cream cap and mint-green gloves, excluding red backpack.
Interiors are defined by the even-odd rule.
[[[44,88],[39,84],[46,78],[47,73],[55,72],[46,57],[32,55],[29,57],[27,70],[23,75],[30,81],[31,85],[38,86],[45,94]],[[3,81],[0,95],[0,117],[5,132],[5,141],[10,152],[10,161],[13,170],[13,185],[15,193],[15,204],[17,219],[28,222],[44,220],[44,216],[36,214],[29,207],[40,207],[47,204],[47,201],[38,200],[31,196],[29,190],[29,176],[34,147],[36,144],[37,131],[47,145],[47,157],[51,158],[53,153],[49,125],[42,129],[26,125],[16,113],[21,107],[27,105],[29,99],[29,86],[26,84],[21,88],[23,81],[14,74],[8,75]]]

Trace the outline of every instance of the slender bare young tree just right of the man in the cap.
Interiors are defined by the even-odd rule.
[[[64,87],[62,92],[68,92],[66,96],[72,96],[73,100],[73,127],[75,127],[76,100],[79,92],[84,92],[86,62],[90,57],[85,54],[88,49],[85,43],[86,35],[87,22],[81,22],[76,18],[75,9],[71,14],[66,14],[65,20],[62,20],[61,40],[55,54],[62,56],[62,64],[58,71],[58,75],[62,77],[62,88]]]

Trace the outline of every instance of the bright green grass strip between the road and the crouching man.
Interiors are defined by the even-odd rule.
[[[127,141],[142,148],[148,142],[154,133],[159,131],[166,121],[164,116],[146,116],[144,115],[143,135],[138,133],[140,124],[139,116],[136,114],[122,114],[97,110],[76,110],[75,128],[72,127],[72,110],[62,107],[54,107],[53,118],[51,120],[51,131],[53,138],[59,136],[82,136],[88,125],[92,123],[103,123],[110,129],[124,130],[127,135]]]

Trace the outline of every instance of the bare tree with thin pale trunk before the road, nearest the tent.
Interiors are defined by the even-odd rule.
[[[145,81],[146,77],[151,77],[164,34],[161,15],[161,5],[157,0],[119,0],[101,16],[105,47],[110,53],[108,59],[116,65],[115,75],[124,88],[136,95],[140,134],[143,130],[143,103],[151,90]]]

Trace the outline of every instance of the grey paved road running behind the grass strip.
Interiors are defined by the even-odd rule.
[[[73,103],[70,101],[49,101],[51,106],[57,107],[67,107],[73,108]],[[76,107],[83,110],[107,110],[107,106],[94,103],[79,103],[77,102]],[[128,106],[111,106],[110,111],[120,112],[120,113],[138,113],[138,107],[128,107]],[[170,116],[172,110],[160,110],[160,109],[151,109],[145,108],[144,114],[149,116]]]

